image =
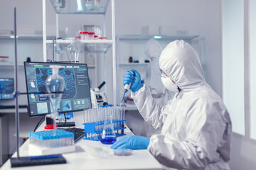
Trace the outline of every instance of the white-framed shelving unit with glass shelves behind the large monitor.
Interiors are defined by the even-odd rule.
[[[56,13],[56,40],[48,40],[46,36],[46,0],[42,0],[43,2],[43,61],[47,61],[47,50],[46,46],[51,47],[57,55],[65,52],[65,48],[70,44],[70,40],[57,40],[59,35],[59,23],[58,23],[58,15],[62,14],[93,14],[93,15],[103,15],[104,16],[104,28],[103,35],[106,37],[106,12],[107,6],[110,4],[110,0],[101,0],[97,1],[98,8],[95,10],[88,10],[85,8],[85,0],[81,1],[62,1],[60,0],[60,4],[55,4],[54,0],[50,0],[53,8]],[[65,3],[65,5],[63,4]],[[81,3],[81,4],[79,4]],[[65,7],[64,7],[65,6]],[[114,0],[111,0],[111,17],[112,17],[112,40],[75,40],[75,44],[80,47],[80,53],[103,53],[105,56],[105,79],[107,79],[107,60],[106,53],[112,47],[112,60],[113,60],[113,96],[116,95],[117,82],[116,82],[116,56],[115,56],[115,18],[114,18]],[[54,52],[53,52],[54,53]],[[97,60],[95,61],[95,75],[97,75]],[[97,79],[97,78],[96,78]],[[105,85],[106,86],[106,85]],[[107,88],[105,88],[107,89]],[[116,98],[114,97],[114,104],[117,103]]]

